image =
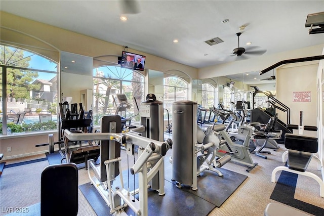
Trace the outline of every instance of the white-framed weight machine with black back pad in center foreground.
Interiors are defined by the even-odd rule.
[[[125,208],[129,206],[138,215],[148,215],[148,182],[161,170],[164,156],[172,146],[170,139],[160,142],[139,136],[144,131],[140,125],[129,132],[120,133],[121,118],[118,115],[103,116],[101,119],[101,133],[73,134],[67,129],[64,135],[71,141],[100,140],[101,162],[96,166],[94,160],[88,160],[88,175],[91,183],[96,187],[102,198],[110,207],[114,215],[128,215]],[[126,148],[127,154],[134,155],[134,145],[143,150],[139,152],[138,160],[130,168],[132,175],[138,174],[139,188],[129,191],[124,188],[121,170],[120,145]],[[155,162],[157,160],[157,162]],[[154,162],[152,162],[154,161]],[[149,170],[149,171],[148,171]],[[120,186],[112,188],[112,183],[119,175]],[[159,176],[161,178],[161,175]],[[164,180],[160,181],[157,191],[164,194]],[[139,199],[135,198],[139,195]]]

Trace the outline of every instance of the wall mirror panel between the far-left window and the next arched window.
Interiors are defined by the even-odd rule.
[[[93,58],[61,51],[59,102],[82,103],[91,110],[93,101]]]

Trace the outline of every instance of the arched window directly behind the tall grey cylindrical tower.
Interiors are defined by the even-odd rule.
[[[173,102],[188,100],[188,83],[179,77],[169,76],[164,78],[163,86],[164,108],[169,111],[169,117],[172,118]]]

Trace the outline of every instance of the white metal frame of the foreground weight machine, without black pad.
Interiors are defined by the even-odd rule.
[[[126,150],[132,148],[132,145],[142,147],[144,150],[139,155],[135,164],[131,167],[131,173],[133,175],[138,174],[139,188],[134,191],[129,191],[124,188],[122,170],[120,166],[120,157],[105,160],[107,181],[100,182],[98,176],[100,175],[99,167],[94,164],[93,160],[88,160],[88,174],[92,184],[96,187],[102,198],[110,207],[110,213],[114,215],[128,215],[124,208],[129,206],[137,215],[148,215],[148,182],[157,174],[157,172],[164,171],[164,155],[171,148],[172,141],[166,140],[165,142],[159,142],[151,140],[145,137],[141,137],[136,133],[93,133],[93,134],[72,134],[68,130],[64,131],[64,135],[71,141],[81,140],[110,140],[120,143],[120,145],[126,145]],[[150,163],[150,161],[156,161],[156,163]],[[120,187],[116,187],[115,190],[111,187],[111,181],[115,179],[115,176],[111,174],[111,168],[109,164],[119,163],[119,176]],[[149,169],[149,171],[148,171]],[[164,176],[160,175],[159,178],[163,178],[159,185],[159,195],[164,194]],[[134,196],[139,194],[139,200]]]

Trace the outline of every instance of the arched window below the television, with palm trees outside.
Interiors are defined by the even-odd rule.
[[[139,121],[137,115],[140,103],[144,101],[144,76],[137,71],[120,68],[119,65],[107,65],[93,70],[93,112],[94,124],[99,125],[101,116],[106,114],[119,114],[121,117],[132,118]],[[129,106],[118,109],[120,101],[117,94],[125,94]],[[136,98],[136,100],[134,100]],[[136,106],[138,105],[138,108]]]

